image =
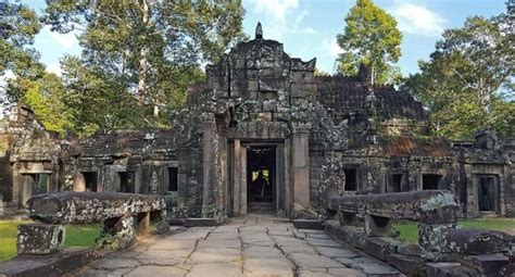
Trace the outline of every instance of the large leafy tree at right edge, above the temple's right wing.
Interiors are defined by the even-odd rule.
[[[515,137],[514,27],[510,12],[469,17],[445,30],[430,61],[407,78],[404,88],[428,109],[438,135],[468,139],[488,128]]]

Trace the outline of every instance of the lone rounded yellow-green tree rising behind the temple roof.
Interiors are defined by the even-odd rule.
[[[337,42],[344,50],[338,58],[338,71],[357,75],[361,64],[369,68],[372,84],[385,84],[398,77],[392,65],[401,58],[402,34],[397,21],[372,0],[357,0],[346,17],[343,34]]]

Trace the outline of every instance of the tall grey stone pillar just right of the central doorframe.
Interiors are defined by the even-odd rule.
[[[310,131],[307,127],[297,128],[292,137],[293,210],[310,206]]]

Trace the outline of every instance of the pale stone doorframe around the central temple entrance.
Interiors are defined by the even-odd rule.
[[[288,140],[287,140],[288,141]],[[275,147],[275,199],[274,203],[278,215],[288,214],[291,191],[288,184],[288,151],[289,143],[284,141],[234,139],[228,143],[228,182],[230,216],[240,216],[248,213],[247,209],[247,149],[250,147]]]

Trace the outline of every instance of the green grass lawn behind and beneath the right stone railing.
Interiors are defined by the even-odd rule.
[[[463,219],[460,224],[466,229],[493,229],[515,235],[515,218],[477,218]],[[418,241],[418,228],[416,223],[398,223],[395,228],[401,232],[400,238],[411,241]]]

